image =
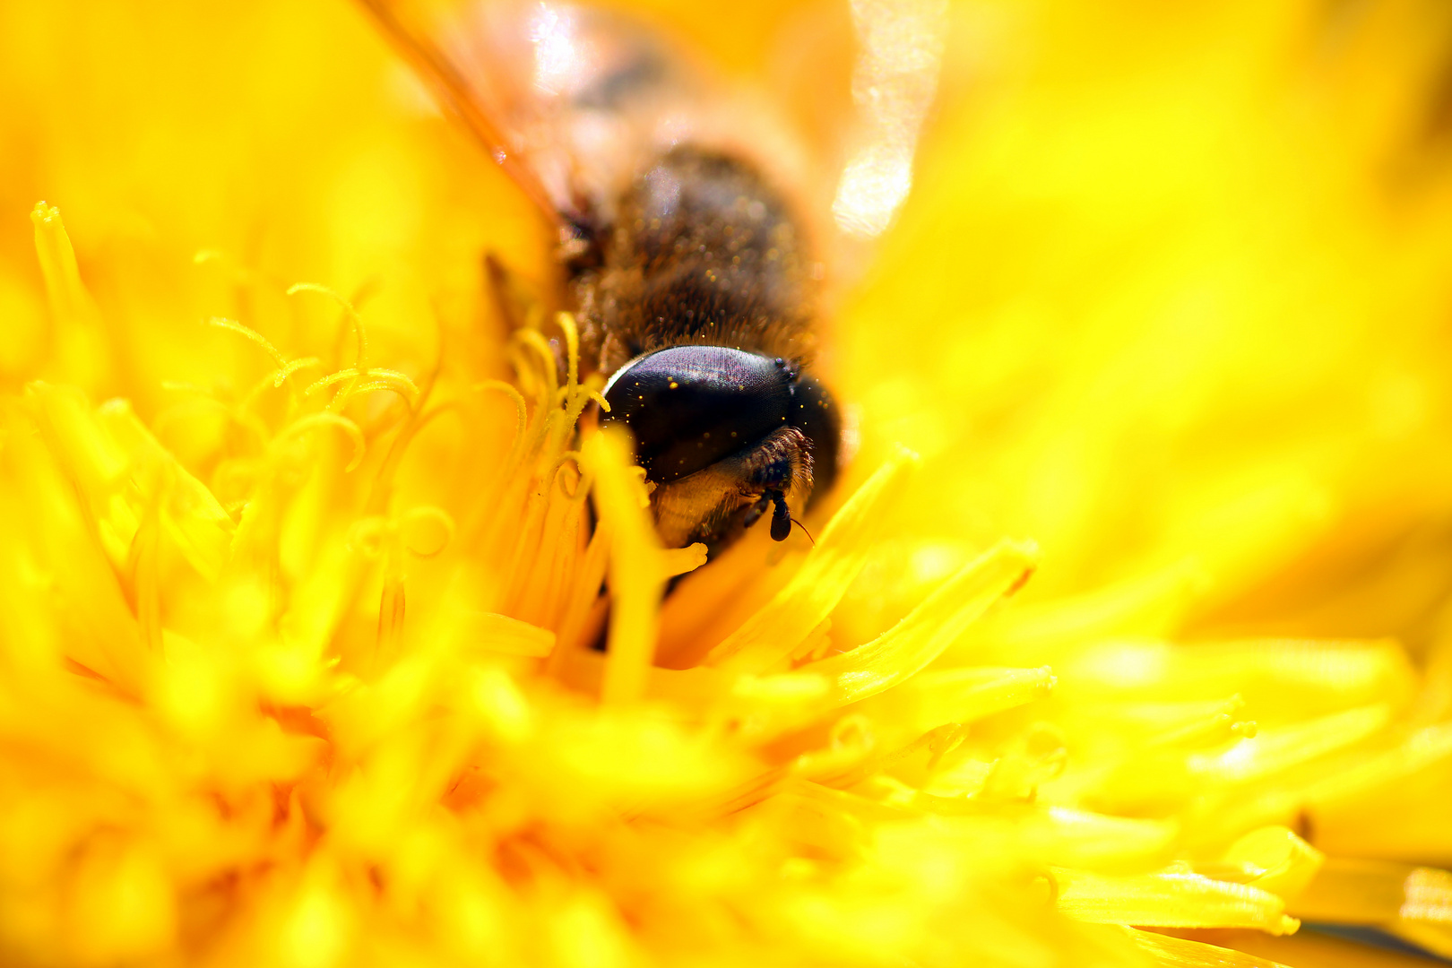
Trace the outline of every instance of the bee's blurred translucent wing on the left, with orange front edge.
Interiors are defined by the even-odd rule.
[[[694,65],[608,10],[520,0],[359,0],[524,193],[562,228],[608,223],[621,181],[687,134]]]

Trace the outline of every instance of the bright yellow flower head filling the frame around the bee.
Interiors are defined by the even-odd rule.
[[[1452,956],[1437,17],[954,6],[854,463],[703,567],[356,10],[4,12],[0,961]]]

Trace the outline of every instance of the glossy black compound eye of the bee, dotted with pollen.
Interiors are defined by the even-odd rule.
[[[646,475],[668,483],[786,427],[793,377],[786,363],[756,353],[671,347],[610,380],[607,419],[624,421]]]

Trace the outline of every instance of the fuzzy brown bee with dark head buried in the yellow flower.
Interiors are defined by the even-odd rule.
[[[714,556],[764,517],[786,540],[844,457],[815,370],[831,241],[876,235],[906,193],[945,0],[854,0],[858,118],[829,177],[771,97],[620,13],[362,3],[558,228],[581,366],[635,440],[662,543]]]

